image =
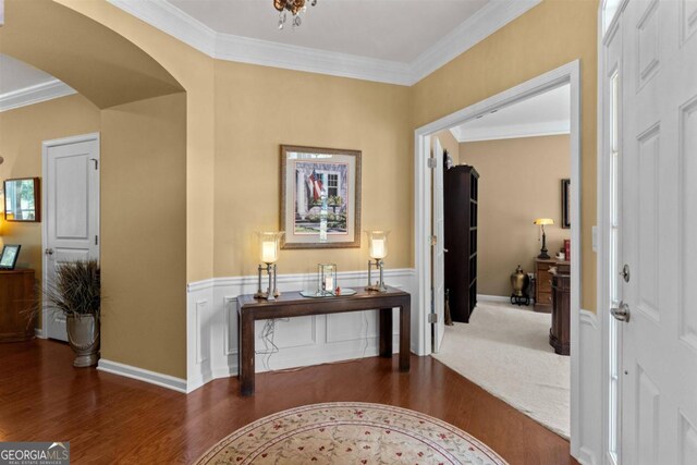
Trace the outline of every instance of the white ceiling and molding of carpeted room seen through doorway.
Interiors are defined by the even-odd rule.
[[[568,134],[571,88],[558,87],[451,130],[458,142]]]

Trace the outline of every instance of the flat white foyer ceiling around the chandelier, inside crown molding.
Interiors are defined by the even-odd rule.
[[[167,0],[221,34],[409,63],[491,0],[318,0],[293,29],[273,0]]]

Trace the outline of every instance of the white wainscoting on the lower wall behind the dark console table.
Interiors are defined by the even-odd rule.
[[[384,276],[389,285],[412,292],[413,269],[386,270]],[[365,286],[367,272],[339,273],[338,280],[343,287]],[[307,274],[279,276],[278,282],[281,292],[316,285]],[[187,285],[187,392],[216,378],[237,375],[237,296],[254,293],[256,284],[256,277],[236,277]],[[399,311],[394,310],[394,351],[399,351],[398,318]],[[265,321],[257,321],[256,369],[260,372],[375,356],[377,330],[377,311],[281,319],[267,338],[262,336]]]

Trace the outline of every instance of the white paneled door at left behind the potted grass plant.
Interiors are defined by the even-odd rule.
[[[99,135],[44,143],[44,285],[68,261],[99,259]],[[68,340],[65,319],[44,311],[47,338]]]

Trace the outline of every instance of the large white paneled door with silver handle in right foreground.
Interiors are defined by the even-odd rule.
[[[620,457],[697,464],[697,3],[621,14]]]

